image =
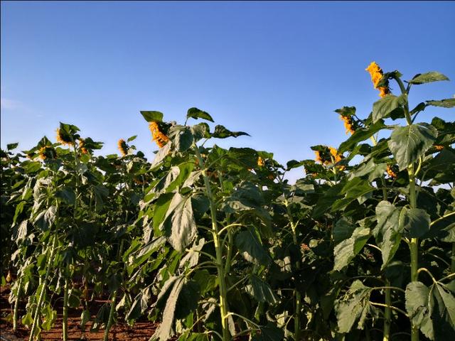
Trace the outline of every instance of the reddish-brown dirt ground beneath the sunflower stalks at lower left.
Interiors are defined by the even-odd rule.
[[[18,330],[13,331],[13,325],[10,322],[8,316],[12,315],[13,307],[8,302],[9,297],[9,286],[0,287],[0,340],[1,341],[18,341],[28,340],[30,330],[19,323]],[[61,301],[61,300],[60,300]],[[104,302],[95,302],[104,303]],[[23,315],[25,304],[19,310],[19,316]],[[58,307],[58,318],[51,330],[43,330],[41,332],[41,340],[61,340],[62,339],[62,309]],[[82,308],[70,309],[68,312],[68,338],[69,340],[102,340],[104,336],[104,330],[98,332],[90,332],[90,326],[92,323],[87,323],[85,331],[80,329],[80,314]],[[92,318],[95,318],[97,311],[92,311]],[[154,334],[157,325],[149,321],[138,321],[134,324],[134,327],[129,327],[126,323],[122,323],[119,319],[117,325],[112,326],[109,332],[109,340],[113,341],[126,341],[126,340],[137,340],[144,341],[149,340],[151,335]]]

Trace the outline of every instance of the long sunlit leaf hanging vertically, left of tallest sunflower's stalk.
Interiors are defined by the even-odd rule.
[[[376,220],[378,224],[373,229],[376,244],[382,252],[382,268],[393,259],[400,247],[402,228],[400,228],[400,209],[388,201],[381,201],[376,206]]]

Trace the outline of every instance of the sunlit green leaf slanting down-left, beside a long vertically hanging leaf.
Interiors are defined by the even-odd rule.
[[[353,234],[336,245],[333,249],[333,256],[335,256],[335,264],[333,270],[340,271],[345,266],[348,266],[350,261],[357,255],[363,246],[370,238],[370,229],[365,227],[357,227],[354,229]]]

